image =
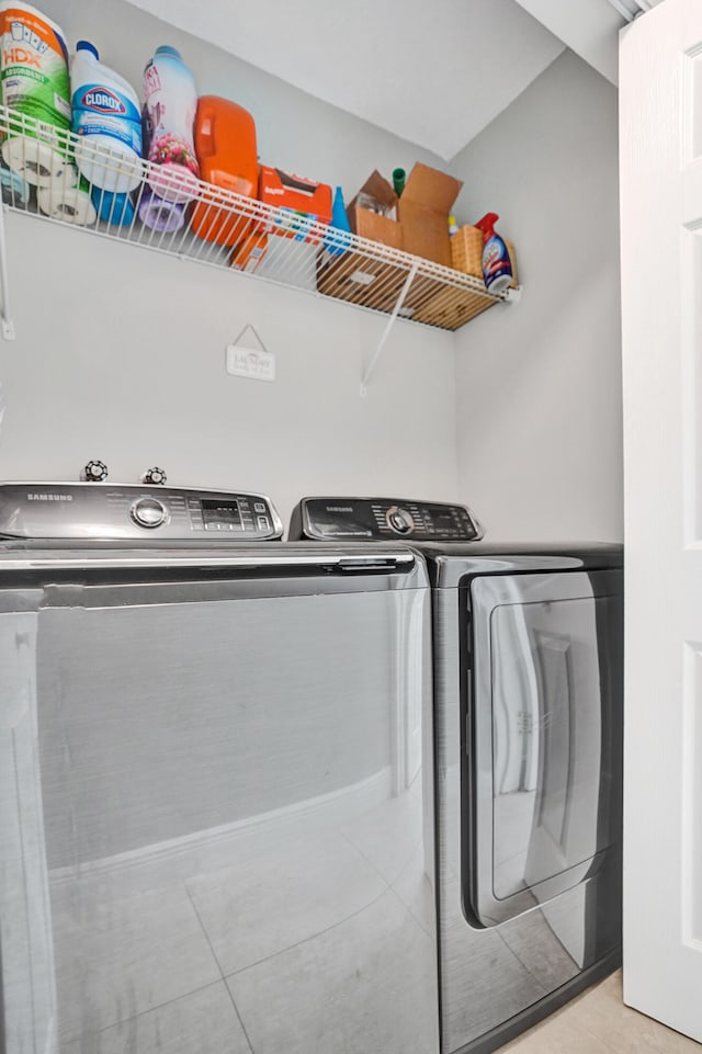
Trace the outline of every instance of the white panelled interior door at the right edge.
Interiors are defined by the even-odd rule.
[[[620,49],[624,999],[702,1040],[702,3]]]

